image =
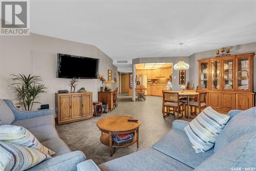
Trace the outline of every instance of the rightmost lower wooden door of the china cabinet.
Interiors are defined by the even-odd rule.
[[[236,109],[247,110],[249,108],[252,108],[252,96],[236,94]]]

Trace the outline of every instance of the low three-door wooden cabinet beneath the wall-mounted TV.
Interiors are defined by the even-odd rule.
[[[55,94],[58,124],[92,118],[92,92]]]

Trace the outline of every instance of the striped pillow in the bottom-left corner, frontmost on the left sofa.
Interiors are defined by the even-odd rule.
[[[26,170],[50,158],[36,149],[0,141],[0,170]]]

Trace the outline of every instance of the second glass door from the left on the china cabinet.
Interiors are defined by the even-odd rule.
[[[211,61],[211,89],[220,89],[220,67],[221,62],[219,60]]]

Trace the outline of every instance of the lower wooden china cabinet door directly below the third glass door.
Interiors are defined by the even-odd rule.
[[[233,110],[235,108],[235,95],[222,93],[221,94],[221,109]]]

